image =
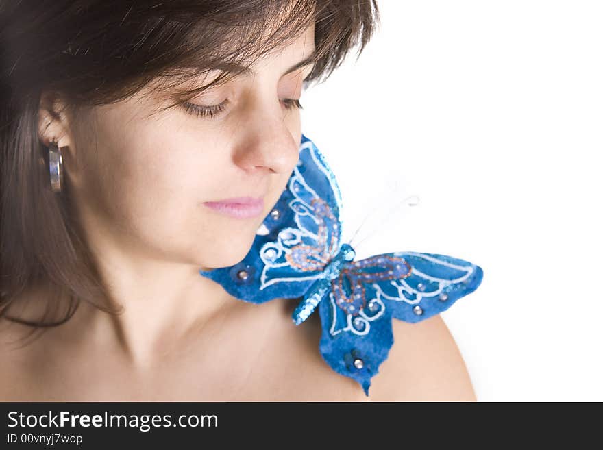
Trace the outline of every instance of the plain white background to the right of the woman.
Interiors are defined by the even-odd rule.
[[[378,2],[365,52],[302,96],[344,233],[417,195],[358,256],[484,269],[442,313],[478,401],[603,401],[603,2]]]

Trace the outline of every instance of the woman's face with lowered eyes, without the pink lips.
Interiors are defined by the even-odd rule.
[[[285,73],[314,49],[312,26],[265,55],[253,74],[190,99],[225,101],[213,117],[180,106],[150,115],[167,101],[152,86],[95,108],[86,123],[93,142],[75,136],[75,160],[65,161],[86,234],[119,251],[203,268],[241,261],[299,158],[299,110],[286,99],[299,99],[312,66]],[[257,216],[234,218],[204,205],[247,196],[264,199]]]

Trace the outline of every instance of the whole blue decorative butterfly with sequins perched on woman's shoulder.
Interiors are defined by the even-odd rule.
[[[199,271],[238,299],[302,297],[299,325],[318,308],[319,351],[331,368],[369,395],[393,345],[392,318],[416,323],[447,310],[482,282],[482,268],[434,253],[373,255],[354,261],[341,242],[341,192],[314,143],[302,135],[287,188],[258,229],[243,261]]]

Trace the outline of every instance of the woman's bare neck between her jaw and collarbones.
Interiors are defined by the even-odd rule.
[[[107,287],[106,303],[122,312],[91,308],[84,323],[97,340],[116,344],[136,366],[153,364],[162,354],[182,347],[187,336],[198,336],[210,321],[223,321],[249,307],[199,275],[200,266],[142,253],[123,243],[114,245],[108,239],[88,242],[94,242],[91,249]]]

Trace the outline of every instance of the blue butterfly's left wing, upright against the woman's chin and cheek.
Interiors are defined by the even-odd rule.
[[[199,271],[245,301],[302,297],[339,250],[341,192],[314,143],[302,135],[299,162],[264,219],[251,249],[234,266]]]

